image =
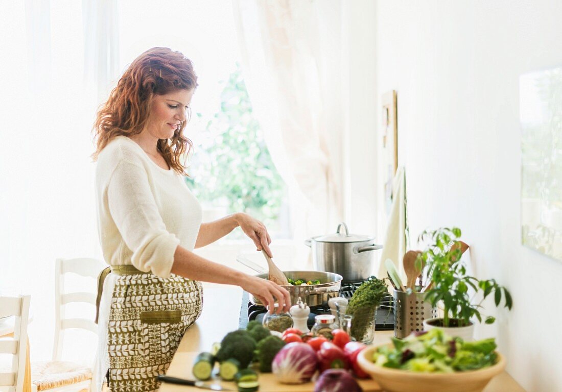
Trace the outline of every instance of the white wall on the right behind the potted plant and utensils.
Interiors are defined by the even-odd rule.
[[[521,245],[518,79],[562,66],[561,20],[549,0],[377,3],[377,90],[398,92],[411,238],[459,226],[477,275],[511,290],[513,311],[477,333],[497,336],[529,391],[562,390],[562,262]]]

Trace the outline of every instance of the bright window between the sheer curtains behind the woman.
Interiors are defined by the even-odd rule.
[[[189,188],[203,221],[247,212],[272,238],[289,238],[283,180],[271,161],[239,66],[232,6],[224,0],[119,2],[120,70],[154,46],[182,52],[194,63],[198,89],[185,134],[193,141]],[[243,236],[235,230],[225,239]]]

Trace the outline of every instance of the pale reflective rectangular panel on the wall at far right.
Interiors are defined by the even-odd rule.
[[[521,239],[562,261],[562,68],[519,78]]]

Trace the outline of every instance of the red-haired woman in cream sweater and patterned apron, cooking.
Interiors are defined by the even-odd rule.
[[[278,302],[279,311],[291,306],[288,291],[273,282],[192,252],[240,226],[271,256],[268,231],[246,214],[201,224],[180,162],[192,145],[183,130],[196,87],[182,53],[152,48],[131,63],[98,112],[98,227],[111,273],[98,293],[94,390],[107,371],[111,391],[158,388],[156,376],[201,314],[200,281],[241,286],[266,304]]]

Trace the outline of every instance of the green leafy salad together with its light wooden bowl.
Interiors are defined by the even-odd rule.
[[[388,392],[480,392],[504,371],[495,350],[493,338],[465,342],[430,330],[365,348],[357,361]]]

